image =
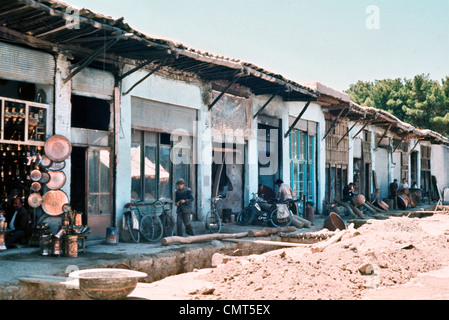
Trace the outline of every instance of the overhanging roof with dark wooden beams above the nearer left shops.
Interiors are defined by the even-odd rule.
[[[123,18],[113,19],[57,0],[0,0],[0,40],[49,52],[66,52],[82,62],[107,47],[92,66],[118,62],[161,64],[196,74],[206,81],[227,80],[256,95],[279,95],[286,101],[316,100],[315,91],[252,63],[190,48],[133,29]]]

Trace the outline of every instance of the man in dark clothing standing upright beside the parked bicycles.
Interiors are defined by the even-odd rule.
[[[176,227],[178,236],[182,236],[182,224],[186,228],[186,233],[189,236],[193,236],[193,229],[190,224],[190,214],[192,213],[192,203],[193,203],[193,192],[190,188],[185,187],[184,179],[179,179],[176,183],[178,185],[178,189],[175,193],[175,202],[178,209],[177,213],[177,221]]]

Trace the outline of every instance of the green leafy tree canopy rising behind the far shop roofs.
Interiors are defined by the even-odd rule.
[[[449,136],[449,76],[441,82],[413,79],[359,81],[346,91],[352,101],[390,112],[411,125]]]

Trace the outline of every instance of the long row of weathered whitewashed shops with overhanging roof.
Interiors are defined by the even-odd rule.
[[[197,220],[214,195],[226,195],[220,210],[238,213],[259,185],[276,196],[278,179],[318,213],[351,181],[367,196],[376,187],[387,196],[402,177],[429,194],[432,177],[449,186],[441,135],[324,84],[150,38],[88,10],[68,28],[67,8],[15,0],[0,11],[16,12],[0,29],[5,196],[28,173],[7,157],[42,152],[52,135],[72,143],[62,190],[94,237],[121,226],[130,201],[173,205],[179,178],[194,191]],[[17,23],[26,14],[42,15],[35,31]]]

